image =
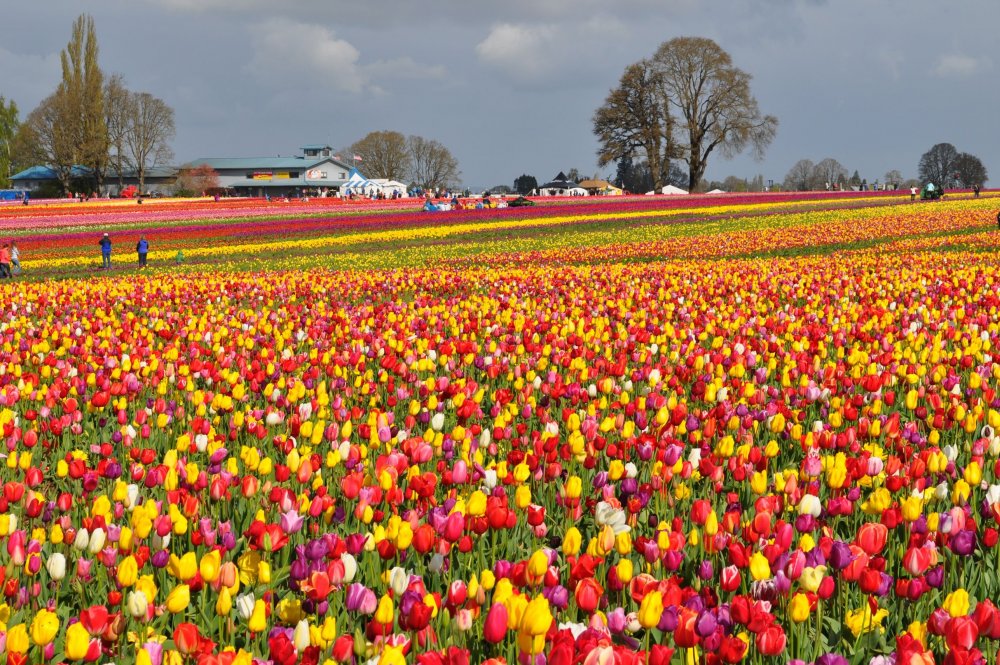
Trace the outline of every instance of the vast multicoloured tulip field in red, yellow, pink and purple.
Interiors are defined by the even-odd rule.
[[[1000,195],[909,199],[0,207],[0,655],[998,662]]]

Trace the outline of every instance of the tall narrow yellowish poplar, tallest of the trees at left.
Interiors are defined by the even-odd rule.
[[[104,73],[97,63],[97,33],[93,17],[83,14],[73,23],[69,43],[60,54],[62,82],[56,94],[74,144],[74,162],[90,169],[100,190],[108,167],[108,130],[104,117]],[[73,164],[70,164],[73,166]]]

